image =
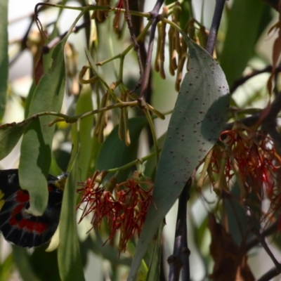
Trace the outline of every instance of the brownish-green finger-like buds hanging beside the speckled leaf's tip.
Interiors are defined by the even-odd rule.
[[[162,15],[164,18],[168,18],[169,16],[169,8],[164,7]],[[171,20],[176,23],[176,25],[180,26],[180,18],[181,18],[181,4],[177,1],[174,4],[174,8],[171,15]],[[195,34],[195,23],[200,27],[199,32],[197,34],[198,40]],[[164,71],[164,60],[165,60],[165,39],[166,39],[166,22],[161,21],[157,25],[158,31],[158,39],[157,39],[157,51],[155,56],[155,71],[159,72],[162,79],[166,78],[166,74]],[[204,26],[197,22],[194,18],[191,18],[188,21],[188,25],[185,28],[185,33],[189,35],[189,37],[193,41],[197,41],[203,48],[207,44],[208,33]],[[179,91],[181,80],[183,79],[183,67],[185,64],[185,60],[188,58],[187,49],[188,46],[180,36],[178,30],[170,25],[168,32],[168,43],[169,43],[169,72],[172,76],[176,74],[176,91]],[[188,64],[187,64],[188,67]],[[188,70],[188,69],[187,69]]]

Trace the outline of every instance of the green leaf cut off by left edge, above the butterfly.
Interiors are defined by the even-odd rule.
[[[32,119],[0,126],[0,160],[6,157],[20,140]]]

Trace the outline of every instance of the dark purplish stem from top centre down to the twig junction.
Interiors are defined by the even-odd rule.
[[[153,51],[153,43],[155,39],[155,31],[157,27],[157,23],[159,22],[159,10],[164,3],[164,0],[157,0],[154,8],[150,12],[151,18],[152,18],[152,25],[150,30],[150,39],[148,43],[148,55],[145,62],[145,71],[143,73],[143,81],[141,83],[141,93],[140,93],[140,100],[141,105],[145,105],[145,95],[146,91],[148,89],[148,81],[150,78],[150,70],[151,70],[151,60],[152,60],[152,51]]]

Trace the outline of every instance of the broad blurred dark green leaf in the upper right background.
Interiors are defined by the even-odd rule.
[[[261,22],[265,28],[270,21],[265,13],[268,9],[263,1],[233,1],[220,57],[221,68],[230,86],[242,75],[249,59],[254,55],[254,46],[263,32]]]

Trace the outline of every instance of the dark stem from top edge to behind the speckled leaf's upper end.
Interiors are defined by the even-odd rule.
[[[207,46],[206,46],[206,51],[210,55],[213,55],[214,53],[214,48],[216,45],[216,37],[218,34],[218,27],[221,23],[221,15],[223,13],[223,6],[225,4],[225,1],[226,0],[216,0],[214,16],[213,16],[213,20],[211,21],[211,30],[209,33]]]

